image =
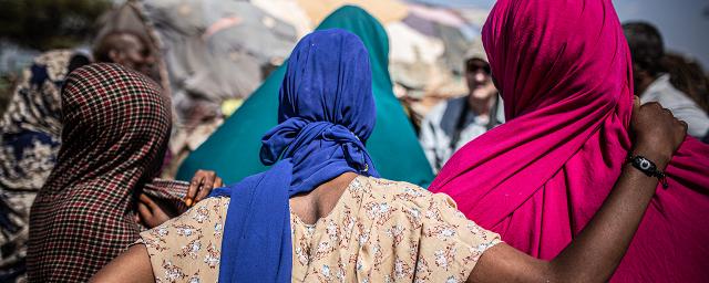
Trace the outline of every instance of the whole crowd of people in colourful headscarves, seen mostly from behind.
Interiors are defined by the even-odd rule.
[[[417,133],[345,6],[186,158],[147,39],[38,56],[0,122],[0,281],[709,277],[701,66],[610,0],[500,0],[481,35]]]

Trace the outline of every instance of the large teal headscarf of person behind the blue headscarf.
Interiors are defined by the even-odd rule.
[[[335,11],[317,30],[333,28],[357,34],[369,51],[377,125],[367,140],[367,150],[377,170],[383,178],[427,187],[433,172],[392,92],[387,32],[373,17],[352,6]],[[229,184],[267,169],[259,159],[261,137],[277,125],[278,91],[286,64],[271,73],[244,105],[185,159],[177,179],[189,180],[197,169],[208,169]]]

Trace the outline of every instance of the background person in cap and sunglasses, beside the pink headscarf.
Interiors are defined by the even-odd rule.
[[[467,142],[504,123],[482,42],[474,41],[465,57],[467,94],[438,104],[421,123],[419,140],[435,172]]]

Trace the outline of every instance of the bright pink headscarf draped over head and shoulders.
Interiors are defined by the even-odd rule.
[[[430,190],[508,244],[552,259],[610,192],[630,149],[630,54],[610,0],[500,0],[483,42],[508,123],[469,143]],[[709,277],[709,147],[688,137],[615,282]]]

